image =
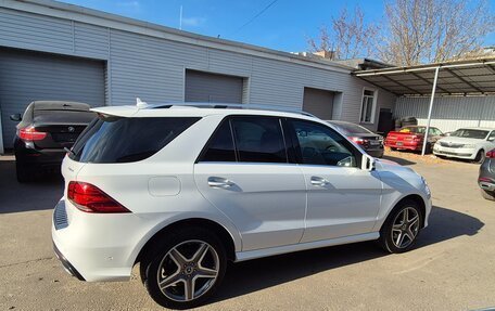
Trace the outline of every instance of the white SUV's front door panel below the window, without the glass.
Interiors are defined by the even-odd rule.
[[[302,242],[372,230],[380,207],[377,172],[354,167],[301,166],[307,186],[306,231]]]

